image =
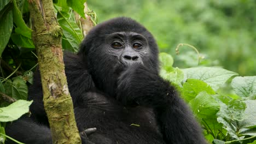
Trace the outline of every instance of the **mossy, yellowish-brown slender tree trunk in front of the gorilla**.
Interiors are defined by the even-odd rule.
[[[58,25],[52,0],[28,0],[32,37],[38,55],[43,101],[53,143],[81,143],[75,123],[72,98],[68,91],[63,53],[62,29]]]

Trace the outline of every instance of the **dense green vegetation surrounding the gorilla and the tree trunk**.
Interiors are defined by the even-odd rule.
[[[78,51],[83,32],[73,10],[83,16],[83,2],[55,2],[63,49]],[[160,54],[161,76],[179,89],[208,141],[256,143],[256,76],[239,76],[256,74],[255,1],[109,0],[88,1],[88,5],[99,21],[129,16],[155,35],[161,52],[169,53]],[[0,2],[0,143],[6,138],[5,122],[18,119],[31,104],[26,101],[27,87],[32,84],[37,56],[29,14],[27,1]],[[179,45],[181,54],[175,56],[179,43],[191,44],[205,54],[197,55],[191,46]]]

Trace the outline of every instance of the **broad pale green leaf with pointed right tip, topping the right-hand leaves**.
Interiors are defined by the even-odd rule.
[[[237,75],[237,73],[225,70],[222,68],[210,68],[210,67],[197,67],[183,69],[184,81],[187,79],[202,80],[212,87],[216,91],[222,86],[231,76]]]

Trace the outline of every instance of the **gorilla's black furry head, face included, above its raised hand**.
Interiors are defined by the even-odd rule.
[[[79,55],[97,87],[114,94],[117,77],[125,68],[142,64],[158,73],[158,46],[153,35],[141,24],[118,17],[94,27],[81,45]]]

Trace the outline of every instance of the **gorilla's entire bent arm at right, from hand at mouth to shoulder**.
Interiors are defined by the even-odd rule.
[[[117,98],[124,105],[152,107],[167,143],[206,143],[188,106],[169,82],[143,65],[127,68],[118,80]]]

